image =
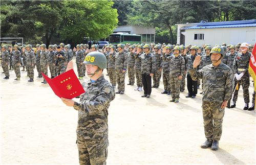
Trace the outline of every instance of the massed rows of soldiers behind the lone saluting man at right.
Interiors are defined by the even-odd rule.
[[[241,53],[240,48],[241,43],[238,43],[237,45],[226,45],[226,43],[223,43],[222,45],[216,45],[221,46],[225,52],[225,56],[222,59],[222,62],[229,66],[233,70],[233,74],[235,75],[237,72],[237,69],[241,70],[241,62],[237,62],[237,58],[240,58],[241,55],[238,56],[239,53]],[[152,57],[152,66],[148,66],[144,64],[144,67],[142,66],[142,59],[145,55],[145,48],[150,49],[151,55],[148,57]],[[183,92],[185,90],[185,78],[187,77],[187,89],[188,89],[188,95],[186,98],[196,98],[197,95],[197,89],[200,85],[199,81],[194,81],[191,79],[190,74],[187,72],[188,69],[192,68],[193,61],[195,60],[196,56],[201,56],[201,62],[198,66],[198,70],[203,68],[206,65],[211,64],[210,59],[210,51],[212,47],[209,44],[205,44],[202,47],[198,45],[171,45],[171,44],[119,44],[117,46],[114,45],[105,45],[103,48],[103,53],[106,56],[108,60],[108,75],[110,77],[111,83],[116,86],[118,84],[118,92],[120,94],[124,93],[124,73],[128,72],[129,77],[129,84],[127,85],[134,85],[135,78],[137,87],[135,90],[142,91],[143,86],[143,74],[145,70],[150,70],[151,73],[148,71],[147,75],[152,74],[153,77],[153,88],[159,87],[160,78],[162,76],[163,79],[163,85],[164,85],[164,91],[161,92],[162,94],[167,94],[172,96],[172,100],[170,102],[179,102],[179,93],[180,91]],[[243,63],[245,63],[245,67],[248,68],[249,64],[249,57],[250,52],[252,51],[252,45],[248,45],[248,53],[247,55],[243,56],[246,57],[246,60],[242,60]],[[113,58],[115,57],[115,58]],[[182,57],[182,58],[181,58]],[[236,60],[234,60],[236,59]],[[238,59],[239,60],[239,59]],[[241,60],[239,60],[241,61]],[[146,61],[147,62],[147,61]],[[247,76],[247,75],[246,75]],[[245,76],[245,77],[246,77]],[[151,82],[151,76],[150,80],[147,82]],[[245,78],[244,77],[244,78]],[[234,83],[237,79],[234,79]],[[203,80],[202,80],[203,81]],[[145,81],[146,82],[146,81]],[[249,82],[249,81],[248,81]],[[148,83],[145,83],[148,84]],[[240,83],[241,84],[241,83]],[[243,90],[244,90],[244,98],[245,98],[245,110],[248,109],[248,103],[249,103],[249,93],[246,91],[246,88],[248,90],[249,83],[242,83]],[[204,86],[204,82],[202,82],[202,88]],[[235,85],[236,86],[236,85]],[[143,86],[144,88],[144,86]],[[149,92],[145,92],[144,88],[144,95],[150,95],[151,93],[151,87],[146,87]],[[233,103],[231,105],[231,108],[235,107],[235,102],[237,101],[237,93],[238,90],[234,93],[233,97]],[[246,94],[245,94],[246,93]],[[203,93],[201,93],[203,94]],[[143,95],[143,97],[144,97]],[[150,96],[147,96],[150,97]]]

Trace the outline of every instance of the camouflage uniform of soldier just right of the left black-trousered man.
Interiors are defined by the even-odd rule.
[[[155,87],[159,87],[160,85],[160,79],[161,79],[161,64],[162,64],[162,58],[161,58],[162,54],[156,54],[154,53],[154,57],[155,57],[155,65],[156,65],[156,73],[153,75],[153,83]]]

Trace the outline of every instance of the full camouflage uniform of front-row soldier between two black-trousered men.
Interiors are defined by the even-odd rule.
[[[178,77],[182,76],[185,71],[185,60],[180,55],[178,57],[173,55],[166,58],[165,55],[163,55],[163,61],[169,62],[169,81],[170,90],[172,91],[171,96],[173,99],[180,98],[181,80],[179,80]]]

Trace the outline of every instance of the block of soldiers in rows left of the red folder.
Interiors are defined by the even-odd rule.
[[[2,67],[4,70],[5,78],[9,79],[9,69],[14,68],[16,75],[15,80],[20,80],[20,66],[23,67],[22,71],[27,72],[27,76],[30,78],[28,81],[34,81],[34,68],[36,67],[38,72],[38,78],[41,78],[41,73],[48,76],[48,66],[51,73],[51,78],[60,75],[65,72],[67,63],[73,58],[73,51],[70,49],[70,45],[49,45],[48,49],[45,44],[36,44],[36,48],[32,48],[31,44],[26,46],[19,46],[15,44],[14,50],[12,46],[3,45],[1,48]],[[47,83],[46,80],[42,83]]]

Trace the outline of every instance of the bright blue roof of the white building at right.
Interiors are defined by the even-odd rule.
[[[256,19],[225,21],[225,22],[204,22],[204,23],[199,23],[197,26],[186,27],[184,29],[242,28],[242,27],[256,27]]]

